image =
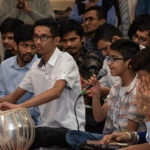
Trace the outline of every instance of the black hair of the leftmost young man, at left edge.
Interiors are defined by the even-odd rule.
[[[2,22],[0,26],[0,31],[2,34],[5,34],[7,32],[14,33],[15,28],[20,26],[21,24],[24,24],[22,20],[16,18],[7,18]]]

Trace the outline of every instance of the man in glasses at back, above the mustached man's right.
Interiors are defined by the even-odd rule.
[[[95,36],[95,31],[106,23],[106,12],[105,9],[99,6],[89,7],[83,14],[83,31],[84,31],[84,46],[96,53],[99,56],[100,63],[103,62],[104,57],[101,52],[97,49],[93,38]]]

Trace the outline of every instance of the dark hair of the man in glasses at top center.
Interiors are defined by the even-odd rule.
[[[106,20],[107,13],[106,13],[105,9],[100,7],[100,6],[91,6],[85,10],[84,14],[89,12],[89,11],[92,11],[92,10],[96,11],[98,19],[105,19]]]

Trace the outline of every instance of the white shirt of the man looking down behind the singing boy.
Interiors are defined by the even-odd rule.
[[[108,66],[108,58],[106,57],[103,62],[103,68],[107,70],[106,76],[102,77],[100,79],[100,83],[103,86],[106,86],[108,88],[111,88],[113,86],[116,86],[120,83],[121,79],[119,76],[112,76],[109,66]]]

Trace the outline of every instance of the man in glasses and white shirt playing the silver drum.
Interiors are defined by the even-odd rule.
[[[48,135],[36,135],[37,141],[44,141],[47,136],[49,146],[60,146],[65,143],[68,130],[80,128],[84,130],[85,106],[83,97],[78,99],[76,112],[79,123],[77,124],[74,105],[81,92],[80,76],[74,59],[66,52],[61,52],[56,44],[59,40],[59,29],[55,21],[41,19],[34,25],[33,40],[37,53],[42,58],[35,62],[19,88],[12,94],[1,99],[1,103],[9,109],[29,108],[38,106],[41,113],[42,125],[49,127]],[[27,91],[33,92],[35,97],[28,101],[14,105]],[[40,128],[39,128],[40,129]],[[38,133],[38,128],[36,130]],[[35,147],[38,147],[39,142]]]

